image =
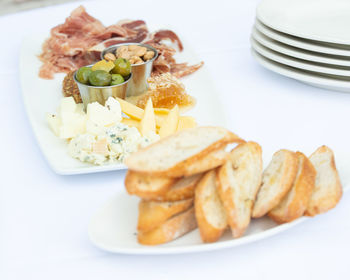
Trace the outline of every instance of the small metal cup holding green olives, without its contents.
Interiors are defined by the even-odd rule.
[[[92,67],[93,64],[88,65],[86,67]],[[125,99],[126,92],[128,89],[129,81],[132,79],[132,73],[130,74],[129,78],[119,85],[113,85],[113,86],[92,86],[92,85],[85,85],[80,83],[77,80],[77,71],[75,71],[73,77],[74,81],[77,83],[81,99],[83,100],[84,104],[84,110],[86,110],[87,105],[92,102],[98,102],[101,105],[105,105],[105,102],[109,97],[119,97],[121,99]]]

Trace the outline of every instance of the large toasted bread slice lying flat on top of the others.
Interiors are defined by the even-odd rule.
[[[142,173],[181,177],[185,175],[184,170],[198,159],[234,142],[244,140],[224,128],[190,128],[133,153],[125,164],[129,169]]]

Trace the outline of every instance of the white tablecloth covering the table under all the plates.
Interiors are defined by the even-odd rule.
[[[296,140],[303,139],[312,139],[315,148],[348,142],[349,94],[304,85],[253,60],[249,37],[257,0],[135,0],[123,3],[123,10],[116,3],[84,5],[105,24],[142,18],[173,26],[205,61],[229,112],[229,128],[245,139],[276,149],[297,149]],[[23,37],[63,22],[77,5],[0,17],[0,279],[348,279],[348,193],[324,215],[234,249],[132,256],[106,253],[89,242],[90,217],[123,191],[125,172],[56,175],[31,131],[18,73]],[[267,143],[264,135],[275,135],[275,143]]]

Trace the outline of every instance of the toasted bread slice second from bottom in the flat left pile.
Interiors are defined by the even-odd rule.
[[[170,217],[193,206],[193,199],[174,202],[155,202],[141,200],[139,203],[139,218],[137,230],[150,231],[164,223]]]

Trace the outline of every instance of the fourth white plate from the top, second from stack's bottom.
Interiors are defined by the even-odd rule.
[[[299,68],[302,70],[318,72],[322,74],[350,77],[350,69],[349,70],[338,69],[335,67],[331,67],[331,65],[330,67],[327,67],[327,66],[323,66],[322,64],[316,64],[314,62],[309,62],[306,60],[301,60],[298,58],[286,56],[284,54],[280,54],[278,52],[275,52],[273,50],[270,50],[264,47],[263,45],[258,43],[254,38],[251,38],[251,44],[253,49],[256,50],[258,53],[260,53],[262,56],[267,57],[278,63]]]

